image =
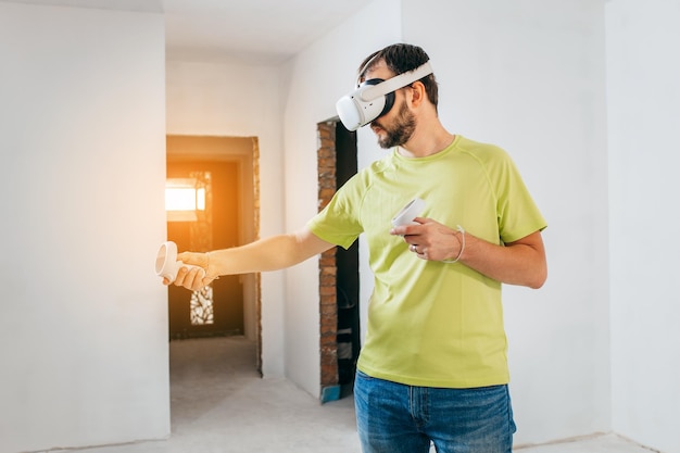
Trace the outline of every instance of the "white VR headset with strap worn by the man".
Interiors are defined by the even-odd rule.
[[[432,67],[427,61],[413,71],[387,80],[372,78],[364,81],[336,103],[340,121],[350,131],[367,125],[390,111],[394,104],[394,91],[430,74]]]

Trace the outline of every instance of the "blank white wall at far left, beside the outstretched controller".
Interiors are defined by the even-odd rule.
[[[0,2],[0,451],[169,433],[164,26]]]

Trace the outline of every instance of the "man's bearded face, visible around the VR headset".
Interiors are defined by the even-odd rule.
[[[366,79],[381,78],[389,79],[394,74],[380,61],[366,73]],[[406,88],[408,89],[408,88]],[[374,119],[370,123],[370,129],[378,137],[378,144],[381,148],[389,149],[399,147],[408,141],[416,128],[416,118],[408,109],[405,89],[399,89],[394,93],[394,106],[383,116]]]

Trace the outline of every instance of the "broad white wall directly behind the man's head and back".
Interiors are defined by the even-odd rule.
[[[505,148],[549,224],[545,286],[504,288],[516,444],[608,431],[603,1],[403,5],[442,122]]]

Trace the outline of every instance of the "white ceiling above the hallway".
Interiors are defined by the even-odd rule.
[[[286,61],[369,3],[369,0],[5,1],[163,13],[168,60],[249,64]]]

